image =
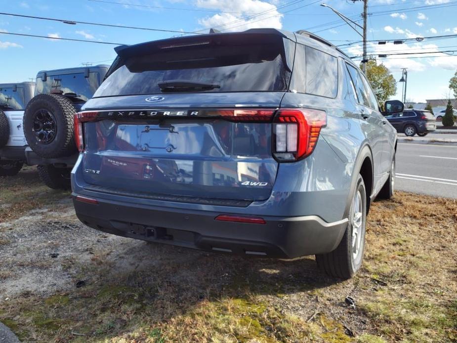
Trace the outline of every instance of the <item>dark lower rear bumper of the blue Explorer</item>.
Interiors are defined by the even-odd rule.
[[[106,199],[97,199],[98,204],[93,205],[75,200],[76,195],[73,193],[73,203],[78,218],[94,229],[238,255],[294,258],[328,253],[339,244],[347,226],[347,219],[327,223],[314,215],[262,216],[266,224],[216,221],[221,213],[126,205]]]

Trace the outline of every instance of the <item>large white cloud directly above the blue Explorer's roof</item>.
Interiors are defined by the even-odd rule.
[[[244,31],[253,28],[271,27],[281,29],[283,27],[281,14],[276,5],[262,0],[197,0],[197,7],[220,10],[220,13],[199,19],[199,24],[205,28],[215,28],[221,31]],[[235,14],[231,12],[261,13]]]

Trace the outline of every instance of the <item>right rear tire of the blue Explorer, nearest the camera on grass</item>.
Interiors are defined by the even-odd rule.
[[[354,200],[360,196],[361,206],[360,210],[360,233],[357,236],[360,239],[358,251],[353,247],[353,228],[354,226]],[[359,199],[357,197],[357,199]],[[329,276],[349,279],[360,269],[362,266],[364,247],[365,247],[365,227],[367,223],[367,193],[365,190],[365,183],[362,175],[358,175],[355,191],[351,200],[351,207],[349,211],[349,223],[344,232],[343,238],[338,247],[328,254],[316,255],[316,262],[324,273]],[[360,237],[359,237],[360,236]],[[356,256],[354,256],[356,254]]]

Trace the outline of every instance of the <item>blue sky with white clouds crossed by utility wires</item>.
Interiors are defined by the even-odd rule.
[[[360,41],[347,25],[329,9],[313,0],[0,0],[0,11],[57,19],[98,22],[176,31],[239,31],[252,27],[275,27],[289,31],[310,29],[335,43]],[[115,4],[109,2],[129,3]],[[325,0],[347,16],[359,19],[362,2]],[[312,3],[312,4],[311,4]],[[433,5],[445,4],[437,8]],[[429,6],[432,5],[432,6]],[[415,9],[418,6],[428,6]],[[164,8],[167,7],[167,8]],[[388,13],[383,13],[387,11]],[[258,15],[263,12],[264,14]],[[392,40],[457,34],[457,1],[454,0],[370,0],[369,40]],[[257,15],[256,15],[257,14]],[[356,17],[359,16],[359,17]],[[330,23],[330,24],[329,24]],[[361,22],[360,22],[361,23]],[[225,24],[225,25],[224,25]],[[326,24],[326,25],[324,25]],[[113,43],[140,43],[178,35],[143,30],[100,27],[0,15],[0,32],[88,39]],[[457,37],[423,40],[400,45],[369,43],[369,52],[433,52],[457,50]],[[70,68],[84,62],[111,63],[113,47],[96,43],[65,42],[0,34],[0,83],[29,81],[38,71]],[[361,45],[344,47],[350,56],[361,54]],[[407,98],[414,101],[449,95],[449,79],[457,70],[456,56],[432,53],[418,56],[443,56],[405,59],[390,56],[382,62],[395,79],[408,68]],[[401,84],[397,85],[401,97]]]

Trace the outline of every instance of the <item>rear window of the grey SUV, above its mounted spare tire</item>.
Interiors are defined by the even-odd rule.
[[[37,78],[35,94],[49,94],[60,92],[62,94],[75,93],[78,99],[87,101],[100,85],[99,75],[96,72],[89,73],[86,78],[84,73],[48,75],[46,81]]]

